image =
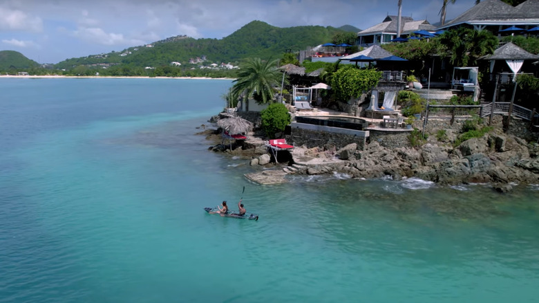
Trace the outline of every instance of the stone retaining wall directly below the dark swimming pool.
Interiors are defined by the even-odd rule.
[[[325,147],[326,149],[330,149],[336,147],[337,149],[341,149],[350,143],[356,143],[357,149],[363,150],[366,144],[366,138],[359,136],[299,128],[293,128],[291,134],[286,135],[285,139],[289,144],[294,143],[296,146],[305,145],[308,148]]]

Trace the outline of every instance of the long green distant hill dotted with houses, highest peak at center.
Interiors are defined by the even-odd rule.
[[[101,66],[126,64],[129,66],[169,66],[171,62],[189,64],[189,59],[205,56],[207,62],[238,62],[246,57],[278,58],[287,50],[305,50],[331,42],[339,28],[323,26],[296,26],[278,28],[263,21],[252,21],[223,39],[193,39],[177,36],[155,42],[149,46],[131,47],[88,57],[67,59],[55,64],[56,68],[74,68],[79,65]]]

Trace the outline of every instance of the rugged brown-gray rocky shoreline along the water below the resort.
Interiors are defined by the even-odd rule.
[[[490,183],[499,192],[508,192],[516,184],[539,184],[539,145],[491,131],[482,138],[471,138],[458,147],[429,139],[421,147],[387,148],[378,142],[358,150],[352,143],[341,149],[295,147],[276,165],[269,156],[261,136],[251,134],[247,140],[221,145],[219,129],[200,133],[217,143],[209,149],[242,156],[250,165],[274,165],[275,169],[245,176],[261,184],[285,183],[287,174],[348,174],[352,178],[393,180],[417,177],[441,185]],[[285,153],[285,152],[280,152]]]

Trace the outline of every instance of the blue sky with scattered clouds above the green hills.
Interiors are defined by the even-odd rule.
[[[475,0],[448,6],[447,20]],[[403,15],[439,21],[442,0],[403,0]],[[221,39],[253,20],[272,26],[365,29],[397,15],[397,0],[0,0],[0,50],[57,63],[176,35]]]

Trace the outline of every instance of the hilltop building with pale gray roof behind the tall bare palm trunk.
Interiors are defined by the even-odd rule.
[[[371,46],[373,44],[390,43],[397,37],[397,16],[387,16],[384,21],[366,30],[357,33],[359,46]],[[415,21],[412,17],[401,17],[401,35],[409,35],[418,30],[435,30],[435,26],[426,20]]]

